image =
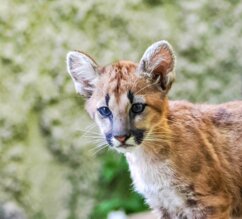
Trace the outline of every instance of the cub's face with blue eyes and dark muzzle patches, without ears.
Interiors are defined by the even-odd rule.
[[[136,70],[125,61],[103,68],[86,102],[107,143],[119,151],[142,144],[162,115],[162,93]]]

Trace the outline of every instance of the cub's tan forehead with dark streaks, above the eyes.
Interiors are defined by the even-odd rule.
[[[139,77],[136,70],[137,64],[130,61],[119,61],[99,68],[100,77],[93,99],[99,104],[104,104],[108,97],[109,102],[120,105],[130,101],[128,94],[131,93],[134,100],[142,102],[145,96],[153,94],[156,88],[151,86],[149,80]]]

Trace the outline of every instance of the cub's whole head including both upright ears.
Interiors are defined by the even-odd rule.
[[[99,66],[90,56],[67,54],[68,72],[76,91],[86,98],[86,110],[110,147],[129,151],[150,141],[164,119],[166,94],[175,79],[170,44],[159,41],[139,64],[119,61]]]

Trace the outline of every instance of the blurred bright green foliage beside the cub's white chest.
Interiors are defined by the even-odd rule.
[[[91,215],[92,219],[106,218],[113,210],[125,210],[126,213],[147,210],[144,200],[133,191],[132,182],[127,171],[128,166],[123,156],[105,152],[102,158],[97,205]]]

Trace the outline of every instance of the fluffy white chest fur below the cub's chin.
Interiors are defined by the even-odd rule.
[[[142,150],[126,154],[134,188],[153,209],[176,212],[184,208],[175,171],[170,162],[152,160]]]

